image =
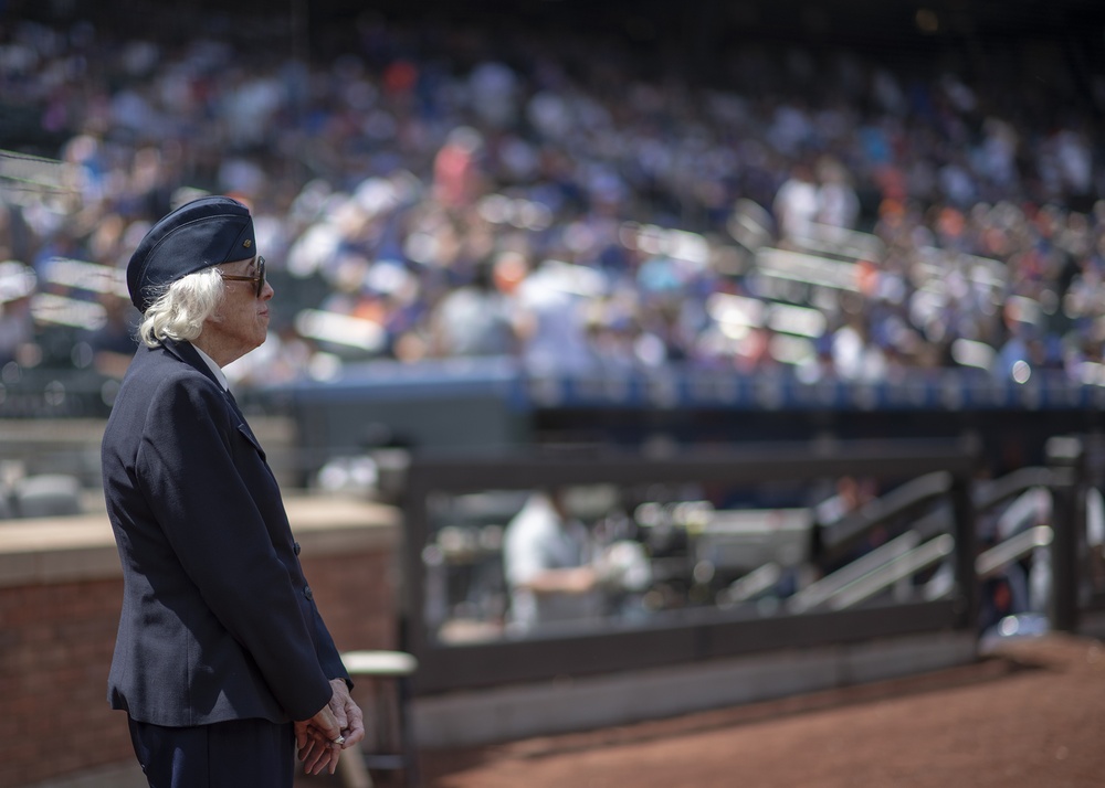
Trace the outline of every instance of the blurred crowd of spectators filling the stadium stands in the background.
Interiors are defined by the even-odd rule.
[[[582,33],[364,17],[308,61],[264,19],[249,45],[0,20],[8,379],[120,374],[130,251],[215,192],[276,290],[241,385],[499,354],[1105,385],[1103,74],[764,43],[707,85]]]

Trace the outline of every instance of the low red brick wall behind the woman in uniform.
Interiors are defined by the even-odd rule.
[[[392,647],[393,529],[347,522],[327,530],[325,520],[324,512],[297,539],[330,633],[341,650]],[[113,553],[114,543],[71,546],[54,561],[64,571],[43,572],[56,545],[4,552],[2,537],[13,528],[0,530],[0,788],[133,760],[126,717],[107,705],[123,582],[81,576],[117,574],[103,569],[103,553]],[[43,526],[42,533],[52,531]]]

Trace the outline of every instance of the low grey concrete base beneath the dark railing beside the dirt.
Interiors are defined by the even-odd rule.
[[[670,668],[454,691],[414,701],[422,747],[464,747],[630,725],[967,664],[969,631],[825,643]]]

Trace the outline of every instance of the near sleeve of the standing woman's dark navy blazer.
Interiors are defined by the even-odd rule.
[[[304,607],[276,555],[272,523],[240,472],[235,452],[243,443],[213,383],[170,379],[146,415],[138,480],[203,603],[252,657],[288,715],[306,720],[329,701],[336,677],[326,674],[316,651],[320,617],[316,622],[305,615],[311,609],[317,617],[313,604]],[[328,633],[326,642],[333,649]]]

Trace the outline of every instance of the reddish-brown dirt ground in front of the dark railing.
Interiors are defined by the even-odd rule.
[[[421,765],[423,788],[1088,788],[1105,786],[1103,739],[1105,646],[1055,635],[930,674]]]

